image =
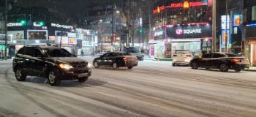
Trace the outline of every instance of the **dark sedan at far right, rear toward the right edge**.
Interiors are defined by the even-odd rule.
[[[222,72],[227,72],[229,69],[240,72],[242,69],[249,68],[249,61],[245,57],[238,57],[230,53],[207,53],[200,58],[192,59],[189,66],[192,69],[203,67],[220,69]]]

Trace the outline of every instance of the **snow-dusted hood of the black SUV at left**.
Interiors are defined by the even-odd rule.
[[[87,61],[77,57],[54,57],[51,59],[53,59],[53,61],[58,61],[59,63],[65,64],[87,64]]]

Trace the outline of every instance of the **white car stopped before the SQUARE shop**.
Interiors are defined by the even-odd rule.
[[[176,65],[189,65],[193,58],[190,50],[175,50],[173,53],[173,67]]]

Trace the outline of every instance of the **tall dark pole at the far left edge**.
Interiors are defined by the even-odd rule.
[[[5,45],[5,48],[4,48],[4,59],[7,60],[7,19],[8,18],[8,1],[5,0],[5,41],[4,41],[4,45]]]

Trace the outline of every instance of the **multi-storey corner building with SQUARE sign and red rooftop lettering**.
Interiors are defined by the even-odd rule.
[[[211,0],[157,1],[150,56],[171,58],[174,50],[211,50]]]

